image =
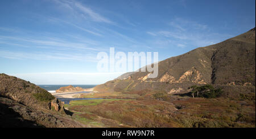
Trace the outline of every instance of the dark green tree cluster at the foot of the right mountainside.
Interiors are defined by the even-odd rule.
[[[191,90],[191,95],[195,97],[204,97],[204,98],[217,98],[220,97],[222,90],[220,88],[214,89],[212,85],[203,85],[190,86],[188,89]]]

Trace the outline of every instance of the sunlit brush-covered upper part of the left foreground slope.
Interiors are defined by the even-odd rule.
[[[0,94],[37,110],[48,110],[55,98],[35,84],[5,74],[0,74]]]

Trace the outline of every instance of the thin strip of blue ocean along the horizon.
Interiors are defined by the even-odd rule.
[[[63,86],[68,86],[68,85],[38,85],[40,88],[46,89],[47,91],[53,91],[57,90]],[[73,85],[75,87],[79,86],[81,88],[93,88],[96,85]]]

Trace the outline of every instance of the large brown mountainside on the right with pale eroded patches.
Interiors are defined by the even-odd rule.
[[[126,92],[152,89],[181,93],[195,84],[255,88],[255,28],[218,44],[162,60],[158,66],[156,78],[147,78],[150,72],[126,73],[96,86],[94,90]]]

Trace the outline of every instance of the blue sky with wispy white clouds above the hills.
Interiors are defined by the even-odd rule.
[[[35,84],[101,84],[97,53],[158,51],[159,60],[255,27],[246,1],[0,1],[0,73]]]

